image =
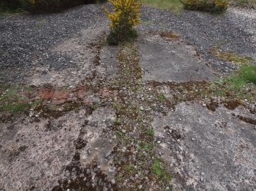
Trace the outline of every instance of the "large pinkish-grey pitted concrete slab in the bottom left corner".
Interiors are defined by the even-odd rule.
[[[83,121],[68,113],[59,119],[21,116],[12,123],[1,123],[0,185],[7,190],[33,187],[49,189],[60,178],[63,166],[73,158],[73,141]]]

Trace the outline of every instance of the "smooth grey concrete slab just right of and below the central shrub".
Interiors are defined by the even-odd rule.
[[[143,35],[138,40],[144,81],[208,81],[213,71],[196,49],[183,42],[159,35]]]

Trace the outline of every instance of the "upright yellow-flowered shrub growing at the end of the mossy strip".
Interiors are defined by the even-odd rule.
[[[125,40],[137,37],[134,26],[140,23],[141,3],[138,0],[109,0],[114,6],[109,12],[103,8],[110,19],[110,33],[108,43],[116,45]]]

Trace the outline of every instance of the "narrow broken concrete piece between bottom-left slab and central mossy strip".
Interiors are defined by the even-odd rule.
[[[81,164],[83,167],[91,164],[92,161],[97,161],[97,164],[101,167],[103,173],[111,176],[109,180],[112,180],[113,174],[109,170],[112,168],[112,160],[110,160],[111,153],[115,147],[114,142],[109,142],[114,137],[109,137],[109,127],[113,125],[115,120],[115,111],[108,108],[99,108],[89,116],[89,123],[84,128],[85,135],[83,139],[86,140],[86,147],[82,149]]]

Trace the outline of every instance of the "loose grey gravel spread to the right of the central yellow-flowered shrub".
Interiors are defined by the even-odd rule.
[[[229,8],[225,14],[184,11],[175,15],[167,10],[143,7],[141,30],[171,30],[196,46],[199,53],[219,72],[232,70],[232,65],[209,54],[209,49],[220,46],[256,58],[256,12]]]

